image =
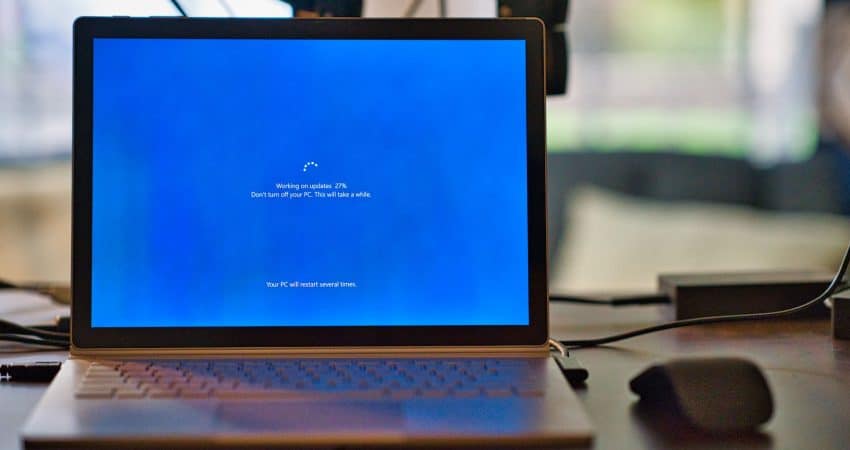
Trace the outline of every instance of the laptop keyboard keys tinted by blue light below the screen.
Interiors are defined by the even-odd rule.
[[[543,395],[524,359],[92,362],[89,399],[408,399]]]

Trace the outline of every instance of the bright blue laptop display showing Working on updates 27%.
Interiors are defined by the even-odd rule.
[[[94,42],[92,326],[527,325],[525,42]]]

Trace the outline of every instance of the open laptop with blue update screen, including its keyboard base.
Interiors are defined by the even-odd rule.
[[[543,34],[78,19],[72,348],[25,447],[588,444]]]

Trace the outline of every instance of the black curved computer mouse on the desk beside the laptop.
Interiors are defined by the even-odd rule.
[[[641,402],[680,413],[714,432],[756,428],[773,415],[761,370],[741,358],[682,358],[644,370],[631,382]]]

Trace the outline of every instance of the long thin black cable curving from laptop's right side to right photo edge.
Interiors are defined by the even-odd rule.
[[[654,333],[656,331],[669,330],[671,328],[681,328],[687,327],[691,325],[706,325],[711,323],[724,323],[724,322],[740,322],[745,320],[763,320],[763,319],[773,319],[776,317],[784,317],[796,314],[800,311],[806,310],[818,303],[823,302],[832,296],[832,294],[845,289],[847,286],[844,283],[844,276],[847,273],[847,266],[850,264],[850,247],[847,247],[847,250],[844,252],[844,258],[841,260],[841,264],[839,265],[838,272],[836,272],[835,277],[829,283],[829,286],[817,297],[812,300],[809,300],[802,305],[795,306],[793,308],[787,308],[780,311],[772,311],[765,313],[752,313],[752,314],[731,314],[728,316],[710,316],[710,317],[699,317],[695,319],[684,319],[684,320],[675,320],[673,322],[662,323],[660,325],[654,325],[651,327],[641,328],[638,330],[628,331],[625,333],[614,334],[611,336],[605,336],[601,338],[595,339],[574,339],[574,340],[562,340],[560,341],[562,345],[571,346],[571,347],[595,347],[598,345],[610,344],[611,342],[622,341],[624,339],[633,338],[636,336],[641,336],[644,334]]]

